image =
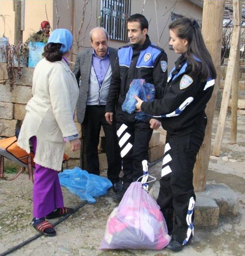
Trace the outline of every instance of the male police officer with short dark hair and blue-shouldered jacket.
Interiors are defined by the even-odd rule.
[[[112,124],[113,110],[118,98],[119,108],[116,113],[116,129],[123,158],[123,190],[118,193],[121,200],[130,183],[143,175],[142,161],[149,160],[148,147],[153,129],[158,129],[160,122],[146,118],[135,119],[135,114],[122,111],[129,85],[133,79],[145,79],[155,85],[155,96],[163,96],[167,83],[167,55],[162,48],[150,42],[148,21],[141,14],[134,14],[127,20],[127,33],[131,45],[118,50],[106,102],[106,121]]]

